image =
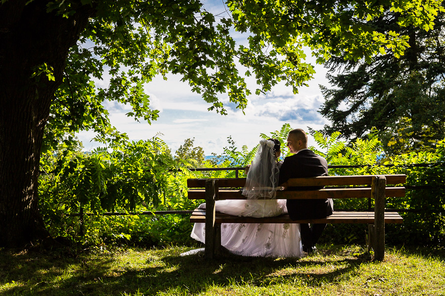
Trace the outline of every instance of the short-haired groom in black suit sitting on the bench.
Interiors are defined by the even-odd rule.
[[[286,146],[294,155],[284,158],[280,168],[278,184],[291,178],[327,176],[327,162],[323,157],[308,149],[308,136],[302,129],[289,132]],[[289,187],[288,189],[316,189],[311,187]],[[292,220],[320,219],[332,215],[332,200],[328,199],[288,199],[286,202],[289,217]],[[326,224],[300,224],[303,251],[316,252],[315,244]]]

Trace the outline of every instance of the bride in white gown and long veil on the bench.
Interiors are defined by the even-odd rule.
[[[246,179],[247,200],[218,200],[216,211],[243,217],[273,217],[287,213],[286,200],[275,199],[278,183],[280,142],[261,140]],[[205,209],[206,204],[198,208]],[[205,242],[205,223],[195,223],[191,237]],[[300,224],[223,223],[221,245],[241,256],[302,257]]]

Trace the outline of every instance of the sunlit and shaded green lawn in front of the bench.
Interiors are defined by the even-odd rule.
[[[443,249],[320,246],[302,259],[180,257],[187,247],[0,250],[0,295],[442,295]]]

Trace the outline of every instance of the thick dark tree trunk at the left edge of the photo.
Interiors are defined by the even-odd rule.
[[[38,176],[45,123],[71,46],[94,9],[69,18],[46,12],[45,0],[0,4],[0,246],[48,237],[39,214]],[[34,75],[46,64],[55,77]]]

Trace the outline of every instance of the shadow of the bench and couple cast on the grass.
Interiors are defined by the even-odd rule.
[[[354,270],[363,262],[362,259],[330,259],[319,255],[298,258],[250,258],[225,255],[213,261],[207,261],[197,255],[184,257],[166,257],[166,262],[178,266],[176,272],[187,275],[185,281],[194,281],[196,292],[201,292],[208,285],[227,286],[232,284],[250,284],[267,287],[270,284],[305,284],[319,286],[321,283],[337,281],[340,275],[354,274]],[[185,284],[184,281],[184,284]]]

